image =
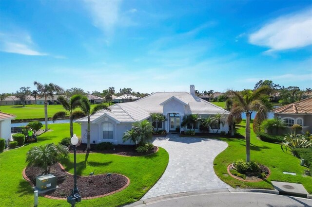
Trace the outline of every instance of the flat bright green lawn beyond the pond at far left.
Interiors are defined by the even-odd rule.
[[[96,104],[92,104],[94,108]],[[40,119],[44,118],[44,105],[2,105],[0,111],[16,115],[16,119]],[[65,111],[62,105],[48,105],[48,117],[51,118],[56,112]]]

